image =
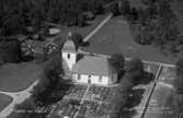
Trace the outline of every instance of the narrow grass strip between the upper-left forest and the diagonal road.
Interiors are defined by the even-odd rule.
[[[96,15],[94,20],[88,21],[88,25],[84,27],[78,27],[78,26],[65,27],[61,30],[61,33],[58,36],[61,38],[57,38],[55,42],[57,44],[62,44],[62,42],[67,39],[68,32],[79,33],[84,37],[91,31],[93,31],[106,16],[107,14]]]

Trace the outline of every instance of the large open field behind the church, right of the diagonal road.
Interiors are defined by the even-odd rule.
[[[85,51],[113,55],[123,52],[125,57],[138,57],[150,61],[174,63],[175,58],[164,57],[152,46],[141,46],[134,42],[129,24],[123,16],[110,20],[93,37]]]

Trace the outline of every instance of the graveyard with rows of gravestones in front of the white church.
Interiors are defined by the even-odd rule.
[[[110,105],[107,97],[111,96],[112,92],[113,86],[76,84],[64,99],[52,107],[50,118],[53,115],[70,118],[73,116],[77,118],[106,117]]]

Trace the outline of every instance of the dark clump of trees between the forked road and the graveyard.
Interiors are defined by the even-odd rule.
[[[35,86],[33,97],[36,105],[47,106],[62,98],[69,86],[68,81],[58,76],[55,70],[49,70],[46,78],[42,79],[41,83]]]

